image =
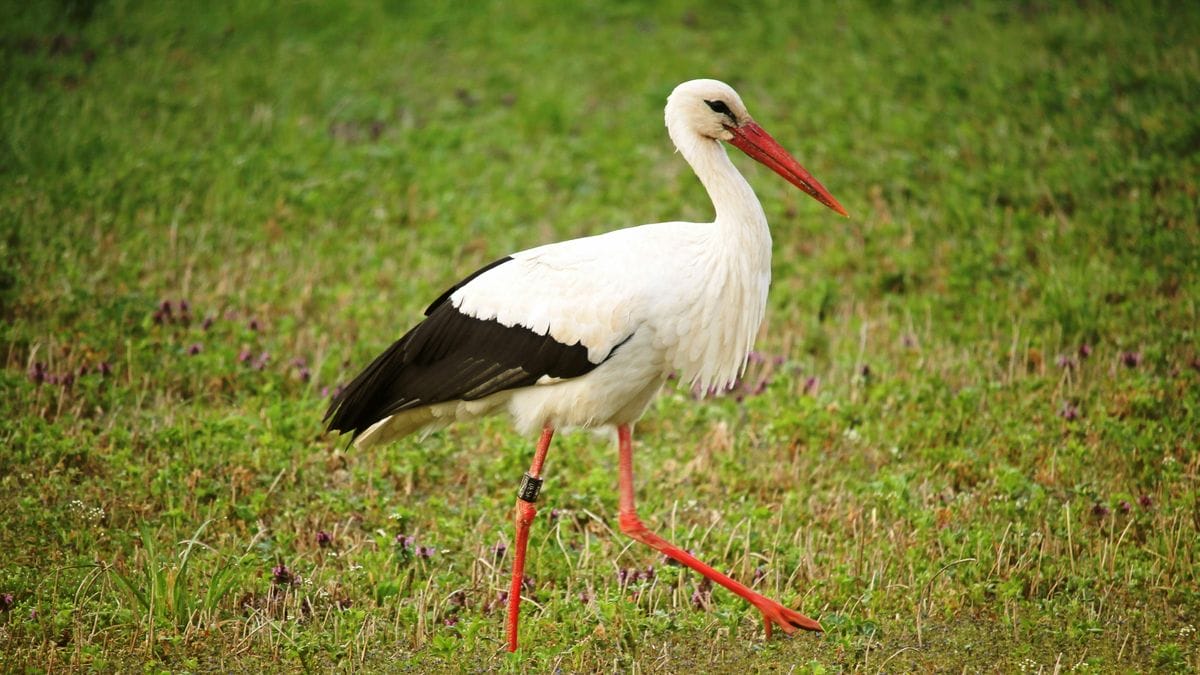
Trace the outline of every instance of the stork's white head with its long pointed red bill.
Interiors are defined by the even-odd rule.
[[[767,166],[814,199],[841,215],[846,209],[769,133],[763,131],[732,86],[716,79],[692,79],[667,97],[667,130],[678,145],[684,135],[724,141]]]

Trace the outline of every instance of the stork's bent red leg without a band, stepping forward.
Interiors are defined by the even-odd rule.
[[[629,534],[638,542],[642,542],[643,544],[654,546],[665,555],[686,565],[688,567],[700,572],[704,577],[708,577],[713,581],[716,581],[749,601],[750,604],[755,605],[755,608],[762,613],[768,638],[770,637],[770,628],[773,623],[779,623],[780,628],[782,628],[785,633],[794,633],[797,628],[804,628],[805,631],[823,631],[821,625],[816,621],[798,611],[787,609],[770,598],[751,591],[733,579],[730,579],[725,574],[721,574],[703,562],[700,562],[688,551],[672,545],[662,537],[659,537],[654,532],[647,530],[647,527],[642,525],[642,521],[637,518],[637,509],[634,506],[634,442],[628,424],[623,424],[617,428],[617,440],[620,448],[618,465],[620,472],[622,532]]]

